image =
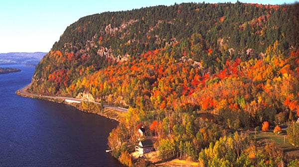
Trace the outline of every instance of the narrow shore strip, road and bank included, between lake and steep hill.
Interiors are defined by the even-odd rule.
[[[15,94],[22,96],[22,97],[28,97],[28,98],[35,98],[39,100],[46,100],[46,101],[52,101],[56,103],[64,103],[71,105],[75,107],[76,109],[82,111],[82,112],[87,112],[87,113],[94,113],[103,117],[106,117],[111,120],[115,120],[117,122],[120,122],[119,119],[120,117],[124,116],[124,113],[127,112],[126,108],[120,108],[120,107],[114,107],[110,105],[103,105],[100,106],[101,104],[98,102],[94,101],[87,101],[87,100],[82,100],[82,99],[76,99],[76,98],[69,98],[69,97],[60,97],[60,96],[46,96],[46,95],[41,95],[41,94],[33,94],[29,93],[27,89],[30,87],[31,83],[25,85],[24,87],[19,88],[18,90],[15,91]],[[96,104],[97,110],[90,110],[88,108],[83,108],[82,104]]]

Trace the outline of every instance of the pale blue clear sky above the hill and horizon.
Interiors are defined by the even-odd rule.
[[[205,0],[206,3],[237,0]],[[283,4],[295,0],[239,0],[247,3]],[[192,0],[1,0],[0,53],[48,52],[66,27],[79,18],[105,11],[172,5]]]

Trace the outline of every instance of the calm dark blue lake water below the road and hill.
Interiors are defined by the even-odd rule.
[[[34,67],[0,75],[0,167],[119,167],[106,153],[116,121],[66,104],[17,96]]]

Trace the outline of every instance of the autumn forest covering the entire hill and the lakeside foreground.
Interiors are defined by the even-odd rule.
[[[258,146],[251,136],[228,131],[265,121],[289,122],[290,134],[298,131],[292,122],[299,116],[298,8],[203,2],[86,16],[37,65],[30,91],[89,94],[129,107],[109,137],[113,155],[128,166],[141,126],[155,137],[162,160],[296,165],[272,143]],[[292,144],[299,146],[296,136]]]

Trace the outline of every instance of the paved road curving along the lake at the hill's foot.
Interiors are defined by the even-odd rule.
[[[22,87],[19,89],[19,92],[25,95],[29,95],[29,96],[39,96],[39,97],[45,97],[45,98],[53,98],[53,99],[63,99],[63,100],[72,100],[72,101],[78,101],[78,102],[82,102],[82,101],[87,101],[87,102],[93,102],[96,104],[101,104],[99,102],[95,102],[95,101],[88,101],[88,100],[83,100],[83,99],[79,99],[79,98],[72,98],[72,97],[62,97],[62,96],[48,96],[48,95],[41,95],[41,94],[33,94],[33,93],[29,93],[27,92],[27,88],[29,88],[31,83],[27,84],[26,86]],[[128,109],[127,108],[122,108],[122,107],[115,107],[115,106],[111,106],[111,105],[103,105],[103,107],[105,108],[111,108],[111,109],[115,109],[118,111],[123,111],[123,112],[127,112]]]

